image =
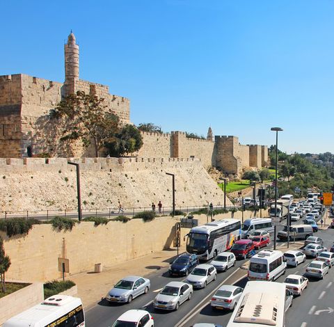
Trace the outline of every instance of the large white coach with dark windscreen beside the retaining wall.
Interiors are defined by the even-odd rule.
[[[195,253],[199,259],[209,260],[232,248],[234,242],[241,238],[241,223],[233,218],[212,221],[191,228],[186,236],[186,251]]]

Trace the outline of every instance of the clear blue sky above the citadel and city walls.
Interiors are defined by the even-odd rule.
[[[3,1],[0,74],[80,78],[128,97],[136,125],[334,152],[333,0]]]

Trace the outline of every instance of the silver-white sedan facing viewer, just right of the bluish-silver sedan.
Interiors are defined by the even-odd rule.
[[[153,308],[162,310],[177,310],[182,303],[190,300],[193,287],[185,282],[168,282],[157,294],[153,301]]]

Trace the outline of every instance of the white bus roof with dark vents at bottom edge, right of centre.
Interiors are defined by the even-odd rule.
[[[283,283],[248,282],[226,327],[284,327],[285,296]]]

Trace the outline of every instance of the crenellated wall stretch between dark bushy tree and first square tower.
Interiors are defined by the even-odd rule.
[[[141,132],[143,137],[143,146],[136,152],[138,157],[172,157],[170,134]]]

